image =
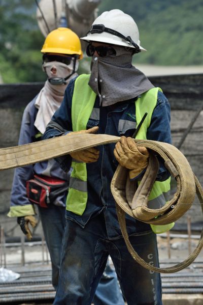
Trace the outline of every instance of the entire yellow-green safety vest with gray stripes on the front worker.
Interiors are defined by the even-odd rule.
[[[72,126],[73,131],[86,129],[87,122],[94,107],[96,93],[88,86],[90,74],[82,74],[77,77],[72,98]],[[143,122],[136,138],[146,139],[147,128],[150,125],[153,110],[157,103],[157,94],[160,88],[152,88],[145,92],[136,100],[136,120],[137,125],[147,112],[148,115]],[[150,100],[150,102],[149,102]],[[66,210],[82,215],[87,204],[87,169],[86,163],[72,160],[72,174],[70,177],[69,193],[66,199]],[[166,203],[165,195],[170,191],[170,178],[163,182],[156,181],[149,196],[150,201],[158,200],[163,206]],[[164,201],[164,202],[163,202]],[[169,227],[170,228],[169,228]],[[162,233],[171,229],[172,225],[154,226],[151,225],[155,233]],[[154,227],[154,228],[153,228]],[[156,228],[159,230],[155,230]],[[163,228],[167,227],[167,228]],[[161,232],[160,232],[161,231]]]

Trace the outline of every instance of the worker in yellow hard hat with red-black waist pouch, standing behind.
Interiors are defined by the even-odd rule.
[[[47,123],[62,102],[67,85],[78,75],[79,60],[83,58],[79,37],[65,27],[59,27],[48,34],[41,52],[42,68],[47,80],[40,93],[24,110],[19,145],[41,140]],[[23,233],[31,239],[30,228],[37,224],[35,215],[36,207],[38,208],[50,253],[52,284],[55,289],[58,284],[69,177],[70,169],[64,172],[54,159],[17,168],[8,214],[10,217],[17,217]],[[124,304],[116,273],[110,265],[107,266],[95,295],[95,305],[100,304]]]

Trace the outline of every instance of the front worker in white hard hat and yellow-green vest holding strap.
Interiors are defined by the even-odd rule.
[[[118,164],[129,170],[134,183],[144,175],[149,152],[144,147],[138,149],[131,138],[140,122],[143,124],[136,138],[171,143],[170,104],[161,89],[132,66],[133,55],[140,56],[137,53],[146,49],[131,16],[118,9],[104,12],[81,39],[87,42],[91,73],[70,81],[42,138],[77,132],[84,136],[111,134],[121,136],[121,140],[116,145],[87,148],[58,158],[64,171],[72,164],[73,172],[54,305],[90,305],[109,255],[128,305],[161,305],[160,274],[140,266],[128,252],[110,185]],[[69,136],[65,139],[68,143]],[[170,173],[162,159],[158,160],[151,207],[164,204],[170,191]],[[158,266],[156,234],[150,225],[129,215],[126,225],[138,254]]]

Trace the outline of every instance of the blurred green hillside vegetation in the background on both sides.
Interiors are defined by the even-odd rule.
[[[136,20],[147,52],[136,63],[203,65],[202,0],[103,0],[98,13],[121,9]],[[4,82],[42,81],[44,37],[30,0],[0,0],[0,74]],[[80,72],[85,71],[83,60]]]

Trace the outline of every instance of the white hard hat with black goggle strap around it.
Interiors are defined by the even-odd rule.
[[[139,30],[131,16],[121,10],[111,10],[98,16],[92,23],[85,37],[86,41],[110,43],[136,49],[136,52],[146,51],[139,40]]]

